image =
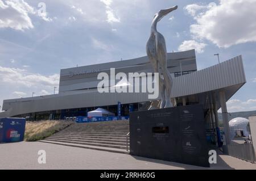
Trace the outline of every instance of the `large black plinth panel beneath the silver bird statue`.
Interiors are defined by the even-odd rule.
[[[209,167],[203,106],[131,112],[130,153]]]

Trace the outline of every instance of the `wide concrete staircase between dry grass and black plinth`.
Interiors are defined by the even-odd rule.
[[[75,123],[40,142],[129,154],[129,132],[127,120]]]

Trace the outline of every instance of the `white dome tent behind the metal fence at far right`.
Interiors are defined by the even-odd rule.
[[[229,121],[230,138],[233,140],[235,136],[249,136],[248,131],[249,120],[243,117],[236,117]]]

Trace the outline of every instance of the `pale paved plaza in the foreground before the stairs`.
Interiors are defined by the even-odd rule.
[[[39,150],[46,151],[46,164],[38,163]],[[204,168],[43,142],[0,144],[0,161],[0,169],[256,169],[228,155],[218,155],[217,164]]]

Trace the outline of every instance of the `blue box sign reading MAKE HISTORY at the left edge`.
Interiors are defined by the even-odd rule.
[[[24,140],[26,120],[24,118],[0,119],[0,142]]]

